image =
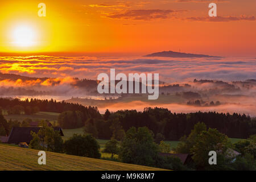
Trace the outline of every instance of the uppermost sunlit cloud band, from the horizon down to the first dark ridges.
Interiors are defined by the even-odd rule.
[[[97,79],[115,68],[122,73],[159,73],[166,82],[197,79],[236,81],[256,78],[256,60],[250,57],[171,59],[145,57],[0,57],[0,71],[30,77]]]

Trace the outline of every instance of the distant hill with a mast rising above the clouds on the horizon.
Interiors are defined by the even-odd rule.
[[[155,52],[145,57],[219,57],[219,56],[209,56],[209,55],[197,55],[194,53],[183,53],[183,52],[174,52],[174,51],[163,51]]]

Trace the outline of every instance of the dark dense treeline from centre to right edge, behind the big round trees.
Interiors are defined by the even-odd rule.
[[[256,133],[256,121],[245,114],[208,113],[171,113],[168,109],[146,108],[143,112],[136,110],[119,110],[109,113],[104,118],[93,119],[90,129],[95,137],[109,139],[114,129],[127,131],[131,127],[148,127],[153,133],[162,134],[166,140],[179,140],[189,135],[197,122],[203,122],[209,128],[214,128],[230,138],[248,138]]]

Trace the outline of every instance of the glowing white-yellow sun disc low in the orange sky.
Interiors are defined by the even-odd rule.
[[[14,44],[20,47],[29,47],[35,44],[35,31],[28,26],[16,27],[13,31]]]

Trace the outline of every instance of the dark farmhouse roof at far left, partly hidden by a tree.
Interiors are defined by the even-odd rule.
[[[61,127],[53,127],[53,129],[55,131],[60,131],[60,135],[64,136]],[[32,140],[32,135],[30,134],[31,131],[38,133],[39,130],[40,127],[13,127],[7,143],[30,143]]]

